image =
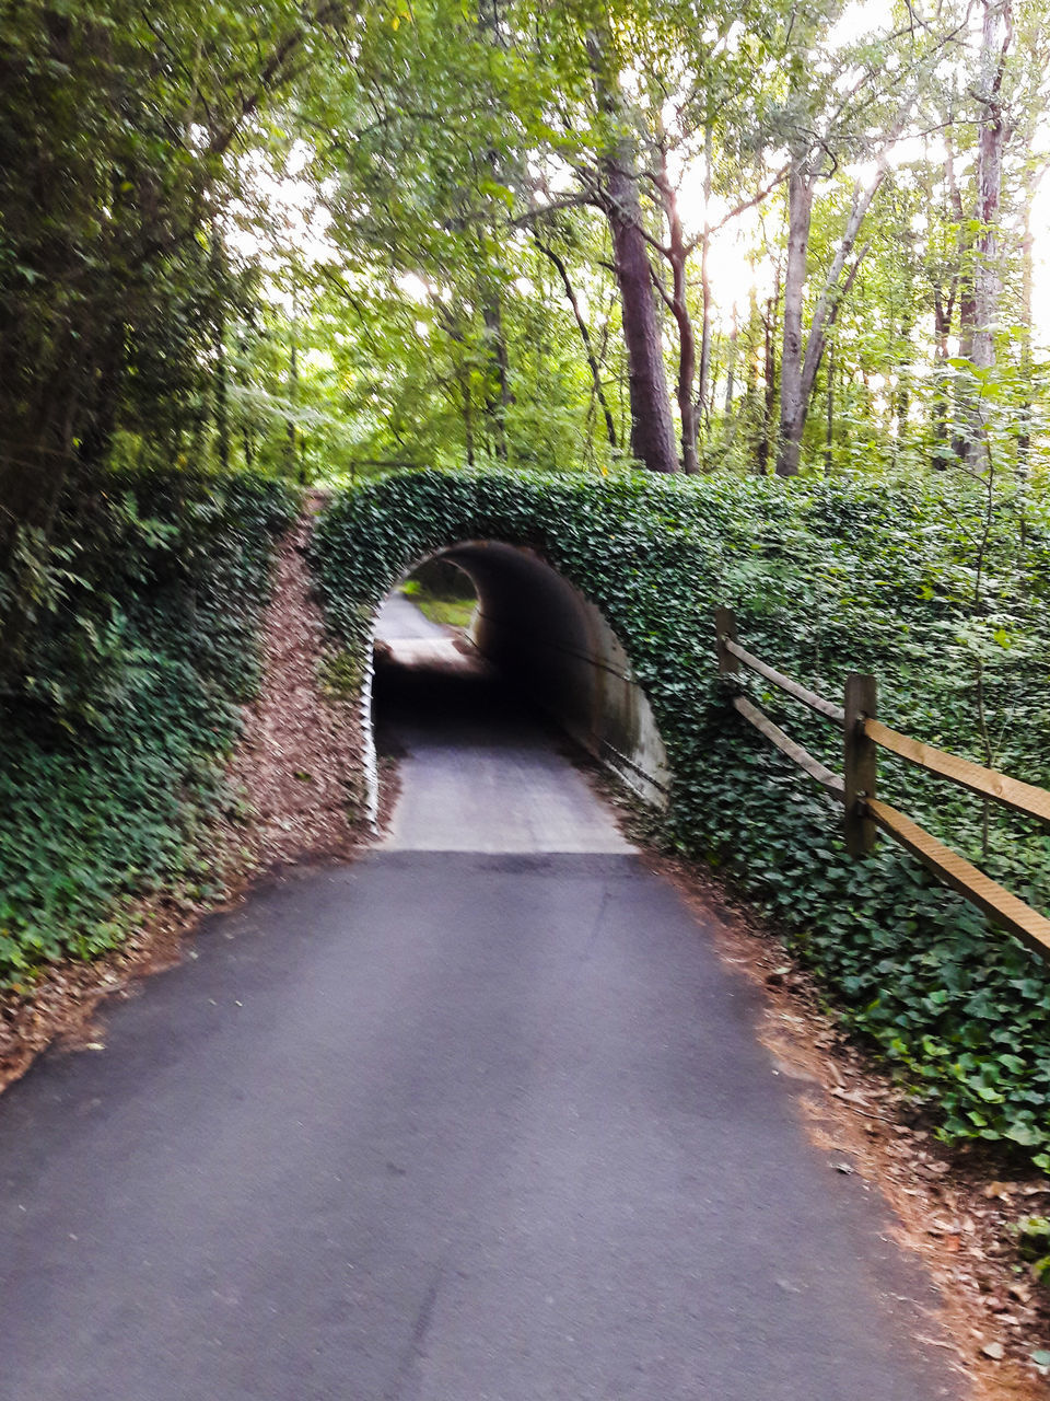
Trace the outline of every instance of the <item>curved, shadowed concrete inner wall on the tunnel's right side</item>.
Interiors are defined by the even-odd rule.
[[[531,549],[465,541],[431,558],[451,560],[473,583],[477,650],[640,797],[666,806],[664,741],[598,608]]]

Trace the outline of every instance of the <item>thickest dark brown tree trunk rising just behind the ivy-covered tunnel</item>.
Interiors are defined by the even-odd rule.
[[[616,282],[620,289],[623,339],[627,347],[631,453],[651,472],[678,472],[664,343],[652,289],[652,269],[641,227],[634,144],[623,134],[629,123],[622,111],[623,98],[616,77],[609,73],[608,46],[592,31],[587,48],[598,105],[620,133],[601,157],[601,170]]]

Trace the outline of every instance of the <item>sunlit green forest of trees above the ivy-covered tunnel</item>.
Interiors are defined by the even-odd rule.
[[[0,551],[102,464],[1023,497],[1043,10],[8,0]]]

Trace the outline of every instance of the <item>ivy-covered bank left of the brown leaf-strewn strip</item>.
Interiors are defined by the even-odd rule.
[[[113,474],[27,563],[21,677],[0,695],[0,988],[119,944],[146,892],[217,892],[209,824],[297,509],[251,474]]]

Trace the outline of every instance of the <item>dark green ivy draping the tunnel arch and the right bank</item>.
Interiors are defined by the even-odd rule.
[[[1050,786],[1050,520],[1029,513],[1021,537],[981,509],[861,482],[410,472],[337,496],[314,566],[330,625],[361,646],[427,553],[466,538],[542,551],[648,692],[673,771],[668,839],[778,922],[946,1138],[1007,1140],[1050,1170],[1050,969],[889,842],[848,859],[840,813],[728,708],[714,663],[728,604],[749,647],[815,689],[871,671],[889,723]],[[840,766],[840,734],[746,684]],[[1044,832],[889,761],[882,793],[1050,909]]]

